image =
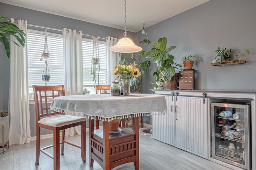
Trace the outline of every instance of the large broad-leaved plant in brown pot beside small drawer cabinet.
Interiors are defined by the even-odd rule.
[[[169,54],[169,51],[175,49],[176,46],[172,45],[166,49],[166,45],[166,37],[158,39],[153,44],[153,48],[146,53],[146,57],[154,57],[153,62],[156,63],[158,70],[162,72],[164,87],[177,88],[179,73],[176,73],[175,68],[182,67],[182,65],[174,63],[174,56]]]

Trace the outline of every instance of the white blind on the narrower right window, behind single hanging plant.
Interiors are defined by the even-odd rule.
[[[83,74],[84,74],[84,87],[93,87],[94,82],[93,75],[91,74],[92,69],[92,51],[93,41],[92,39],[83,38]],[[94,51],[95,57],[95,51]],[[106,42],[99,41],[99,59],[100,59],[100,72],[99,72],[99,83],[104,85],[107,83],[107,59],[106,59]],[[98,70],[96,84],[98,84]]]

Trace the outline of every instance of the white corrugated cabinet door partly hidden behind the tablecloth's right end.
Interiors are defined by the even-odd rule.
[[[152,138],[175,146],[175,117],[174,97],[165,96],[167,113],[165,115],[152,115]]]

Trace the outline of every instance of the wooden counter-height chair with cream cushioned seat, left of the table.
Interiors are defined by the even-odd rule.
[[[61,155],[64,153],[64,143],[81,149],[81,158],[86,162],[86,118],[72,115],[65,115],[64,112],[55,112],[50,110],[50,104],[53,98],[64,96],[63,85],[59,86],[35,86],[33,85],[35,109],[36,109],[36,165],[39,165],[40,151],[52,158],[54,170],[60,169],[60,144]],[[81,146],[74,145],[65,141],[65,129],[75,126],[81,126]],[[40,128],[53,131],[53,145],[40,147]],[[60,131],[62,130],[62,141],[60,142]],[[52,154],[45,151],[53,147]]]

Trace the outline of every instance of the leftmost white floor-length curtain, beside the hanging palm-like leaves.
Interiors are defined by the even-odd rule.
[[[11,23],[14,19],[11,18]],[[27,34],[27,21],[18,20],[17,26]],[[11,39],[18,41],[11,36]],[[27,39],[26,39],[27,42]],[[30,143],[30,113],[28,100],[28,58],[27,46],[18,47],[10,42],[10,86],[9,105],[10,132],[9,144],[23,145]]]

